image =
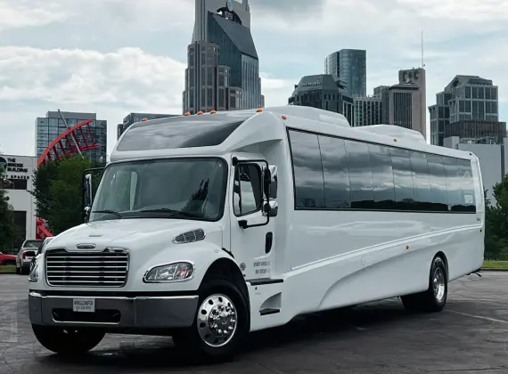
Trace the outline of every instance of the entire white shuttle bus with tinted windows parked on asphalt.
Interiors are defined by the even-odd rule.
[[[132,333],[220,358],[304,313],[438,312],[483,261],[480,175],[470,152],[307,107],[135,124],[95,196],[86,175],[86,222],[37,258],[33,330],[59,354]]]

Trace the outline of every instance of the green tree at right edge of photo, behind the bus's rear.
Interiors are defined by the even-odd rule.
[[[485,256],[501,259],[508,256],[508,175],[496,183],[492,194],[496,204],[486,201]]]

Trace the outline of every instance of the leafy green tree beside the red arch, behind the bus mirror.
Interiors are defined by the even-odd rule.
[[[69,156],[46,162],[34,171],[34,189],[29,193],[36,199],[37,216],[48,223],[57,235],[81,224],[83,171],[100,167],[81,156]],[[94,178],[96,186],[97,178]]]

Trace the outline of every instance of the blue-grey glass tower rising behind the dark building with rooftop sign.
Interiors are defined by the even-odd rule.
[[[324,59],[324,74],[330,74],[345,85],[353,97],[367,95],[367,51],[341,49]]]

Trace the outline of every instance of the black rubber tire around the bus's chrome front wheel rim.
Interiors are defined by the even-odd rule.
[[[223,346],[210,346],[207,344],[200,335],[200,329],[198,328],[198,313],[207,312],[202,309],[204,302],[209,297],[226,297],[231,300],[236,311],[236,323],[233,329],[233,335],[226,341]],[[220,302],[224,302],[227,305],[226,299],[220,299]],[[207,304],[210,312],[213,313],[214,304]],[[238,352],[240,346],[249,332],[249,308],[247,301],[242,296],[242,292],[229,280],[205,280],[204,284],[201,285],[199,290],[199,301],[198,308],[194,315],[193,326],[188,329],[182,329],[173,334],[173,342],[180,348],[188,351],[190,354],[198,354],[201,358],[208,358],[212,360],[229,360],[234,357]],[[227,317],[226,317],[227,319]],[[204,322],[200,322],[201,331],[205,330]],[[210,331],[210,330],[209,330]],[[209,339],[215,337],[213,334],[209,334]],[[214,342],[215,343],[215,342]]]

